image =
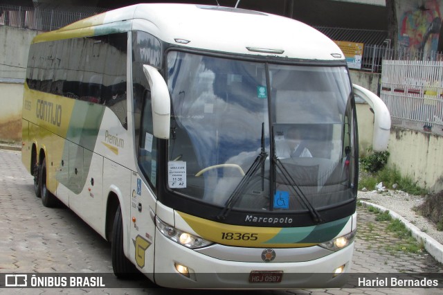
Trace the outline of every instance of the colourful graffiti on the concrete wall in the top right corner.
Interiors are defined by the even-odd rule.
[[[443,0],[397,2],[399,46],[429,56],[437,51],[442,26]]]

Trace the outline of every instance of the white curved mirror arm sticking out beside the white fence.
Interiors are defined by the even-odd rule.
[[[352,84],[354,94],[368,102],[374,113],[374,136],[372,137],[372,150],[383,152],[388,149],[390,136],[390,114],[388,107],[381,98],[368,89]]]

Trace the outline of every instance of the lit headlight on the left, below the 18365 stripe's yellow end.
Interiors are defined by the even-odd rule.
[[[177,244],[181,244],[190,249],[203,248],[213,244],[213,242],[204,240],[196,235],[191,235],[190,233],[180,231],[169,224],[165,224],[165,222],[161,221],[159,217],[156,217],[155,220],[159,231],[163,233],[166,238],[176,242]]]

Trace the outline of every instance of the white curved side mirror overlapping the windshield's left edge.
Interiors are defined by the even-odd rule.
[[[168,86],[153,66],[143,65],[143,72],[151,88],[152,124],[156,138],[168,139],[171,122],[171,99]]]

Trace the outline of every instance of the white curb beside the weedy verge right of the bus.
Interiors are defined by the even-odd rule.
[[[410,230],[410,233],[413,235],[413,238],[415,238],[415,240],[423,242],[424,249],[426,249],[426,251],[428,251],[428,253],[431,254],[431,256],[435,258],[435,260],[437,260],[440,263],[443,263],[443,245],[437,242],[430,235],[420,231],[420,229],[417,226],[410,223],[408,220],[406,220],[406,218],[400,216],[398,213],[395,213],[392,210],[389,210],[388,208],[370,202],[365,202],[365,201],[360,201],[360,202],[361,204],[363,204],[363,206],[372,206],[378,208],[382,212],[389,211],[389,215],[392,218],[400,220],[401,222],[404,223],[406,228]]]

